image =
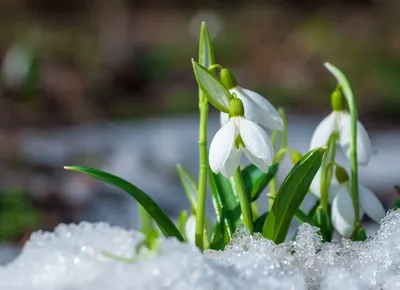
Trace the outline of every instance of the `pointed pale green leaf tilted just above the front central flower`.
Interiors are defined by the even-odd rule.
[[[229,100],[232,98],[228,89],[215,78],[204,66],[192,59],[193,71],[201,91],[219,111],[228,113]]]

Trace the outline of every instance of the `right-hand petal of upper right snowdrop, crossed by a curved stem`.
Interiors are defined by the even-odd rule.
[[[340,146],[350,159],[351,117],[348,112],[340,113]],[[367,165],[372,155],[371,140],[364,126],[357,121],[357,162]]]

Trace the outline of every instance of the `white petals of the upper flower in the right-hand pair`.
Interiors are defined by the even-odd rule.
[[[332,111],[315,129],[310,142],[310,149],[314,149],[328,142],[332,132],[339,133],[339,144],[346,156],[350,159],[350,114],[347,111]],[[372,154],[371,140],[364,126],[357,121],[357,162],[367,165]]]

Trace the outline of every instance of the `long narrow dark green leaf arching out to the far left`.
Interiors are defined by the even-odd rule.
[[[178,240],[184,241],[183,236],[175,224],[158,206],[158,204],[150,196],[133,184],[118,176],[86,166],[65,166],[64,168],[67,170],[85,173],[129,193],[129,195],[132,196],[150,214],[165,236],[176,237]]]

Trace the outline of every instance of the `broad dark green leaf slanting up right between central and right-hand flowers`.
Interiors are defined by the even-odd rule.
[[[290,222],[306,196],[314,179],[326,147],[316,148],[292,168],[278,191],[274,205],[268,213],[263,236],[275,243],[285,241]]]

